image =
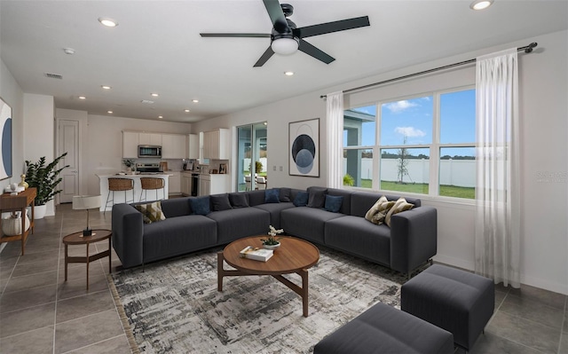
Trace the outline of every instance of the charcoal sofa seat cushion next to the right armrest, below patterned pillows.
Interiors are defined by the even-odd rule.
[[[390,265],[390,229],[384,224],[371,224],[359,216],[337,217],[327,221],[324,237],[329,247]]]

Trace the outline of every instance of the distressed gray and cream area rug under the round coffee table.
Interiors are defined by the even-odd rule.
[[[328,248],[310,269],[307,318],[300,296],[270,276],[228,277],[218,292],[221,249],[109,277],[139,352],[310,353],[375,303],[399,308],[402,274]]]

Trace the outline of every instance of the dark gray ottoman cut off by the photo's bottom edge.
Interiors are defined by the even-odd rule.
[[[314,354],[370,353],[454,353],[451,333],[377,303],[355,319],[327,335],[313,349]]]

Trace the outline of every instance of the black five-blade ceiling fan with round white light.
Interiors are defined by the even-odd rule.
[[[346,29],[361,28],[370,26],[368,16],[357,17],[348,20],[338,20],[319,25],[296,28],[296,24],[288,19],[294,13],[294,7],[290,4],[280,4],[278,0],[263,0],[264,7],[272,20],[272,33],[200,33],[202,37],[248,37],[248,38],[270,38],[271,45],[264,51],[264,54],[256,61],[254,67],[262,67],[274,53],[288,55],[297,50],[323,61],[326,64],[335,59],[326,52],[319,50],[304,38],[313,35],[325,35],[327,33],[344,31]]]

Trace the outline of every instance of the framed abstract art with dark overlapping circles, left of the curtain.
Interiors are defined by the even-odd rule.
[[[288,175],[319,177],[319,118],[288,123]]]

